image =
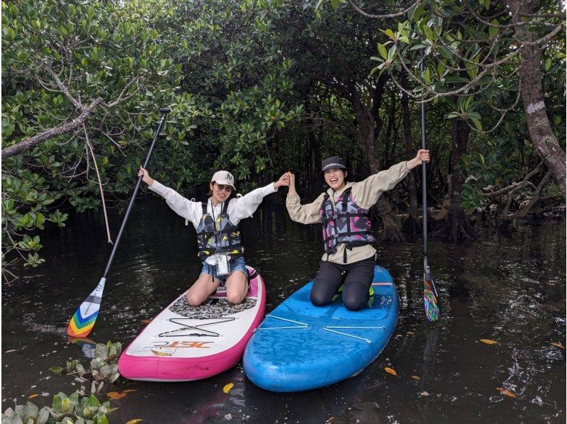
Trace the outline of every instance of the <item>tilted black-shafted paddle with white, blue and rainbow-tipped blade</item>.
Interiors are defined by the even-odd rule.
[[[150,162],[150,157],[152,156],[155,142],[157,141],[159,133],[162,130],[165,122],[165,117],[167,116],[169,110],[169,108],[159,109],[159,111],[162,113],[162,120],[159,121],[157,132],[155,133],[154,140],[150,145],[150,151],[147,152],[147,157],[143,165],[144,168],[147,167],[147,163]],[[116,238],[116,242],[114,243],[114,247],[111,252],[111,257],[108,260],[108,264],[106,264],[106,269],[104,270],[104,275],[102,276],[101,281],[99,281],[99,285],[96,286],[91,294],[89,294],[89,296],[84,300],[81,306],[77,308],[77,311],[74,313],[73,318],[71,318],[71,320],[69,321],[69,325],[67,325],[67,334],[70,336],[86,337],[87,335],[89,335],[89,333],[91,333],[91,330],[94,327],[96,317],[99,315],[99,309],[101,308],[102,293],[104,290],[104,284],[106,283],[106,274],[108,274],[108,269],[110,269],[111,267],[114,255],[116,254],[116,249],[118,248],[118,244],[120,244],[120,238],[122,238],[122,233],[124,231],[126,221],[128,221],[128,216],[130,216],[130,211],[132,211],[132,206],[136,199],[137,192],[138,190],[140,190],[140,184],[142,184],[142,177],[139,177],[137,179],[134,193],[132,194],[130,204],[128,204],[128,208],[126,209],[126,213],[124,214],[122,225],[120,225],[120,231],[118,231],[118,237]]]

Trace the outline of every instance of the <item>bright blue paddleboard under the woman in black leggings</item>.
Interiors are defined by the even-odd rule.
[[[374,268],[374,302],[349,311],[341,299],[313,306],[313,281],[264,318],[244,352],[244,371],[270,391],[328,386],[361,372],[386,347],[398,321],[398,292],[390,273]]]

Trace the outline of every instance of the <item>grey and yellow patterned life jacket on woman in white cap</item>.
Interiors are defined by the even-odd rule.
[[[217,253],[230,255],[230,260],[242,256],[244,247],[240,242],[238,225],[230,222],[226,213],[228,202],[223,204],[220,215],[215,218],[207,212],[207,204],[208,202],[203,203],[203,216],[197,226],[198,258],[204,261]]]

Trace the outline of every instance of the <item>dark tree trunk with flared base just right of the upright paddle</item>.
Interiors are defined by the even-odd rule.
[[[441,225],[441,228],[432,233],[433,237],[449,238],[451,242],[465,242],[478,238],[478,232],[473,225],[468,222],[465,211],[461,206],[461,189],[464,183],[461,173],[455,169],[456,164],[461,160],[461,156],[466,153],[468,145],[468,134],[470,129],[466,122],[453,118],[451,119],[451,196],[449,201],[449,214]]]

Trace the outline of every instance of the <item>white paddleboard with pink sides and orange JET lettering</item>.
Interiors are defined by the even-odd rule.
[[[234,367],[266,307],[264,280],[247,268],[252,277],[242,303],[232,305],[225,291],[217,291],[193,307],[181,294],[120,355],[120,374],[131,380],[190,381]]]

